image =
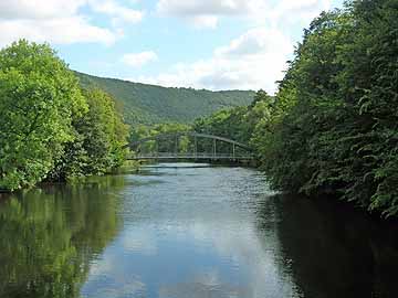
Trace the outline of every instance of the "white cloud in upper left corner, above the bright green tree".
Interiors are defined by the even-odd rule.
[[[139,22],[143,13],[117,4],[114,0],[1,0],[0,46],[19,39],[56,44],[113,44],[123,35],[118,29],[94,25],[80,11],[111,15],[124,22]]]

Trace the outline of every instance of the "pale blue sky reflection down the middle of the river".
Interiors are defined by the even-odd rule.
[[[256,171],[167,164],[126,180],[124,228],[83,297],[298,297],[274,230],[256,228],[271,194]]]

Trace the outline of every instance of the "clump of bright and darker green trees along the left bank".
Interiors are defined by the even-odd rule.
[[[83,94],[49,45],[22,40],[0,51],[0,190],[104,172],[121,163],[126,137],[113,100]]]

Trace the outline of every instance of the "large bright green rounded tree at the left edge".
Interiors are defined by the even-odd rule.
[[[86,108],[77,79],[49,45],[21,40],[1,50],[0,189],[44,179]]]

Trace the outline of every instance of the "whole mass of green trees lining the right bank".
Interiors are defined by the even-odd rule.
[[[398,215],[396,0],[322,13],[305,30],[275,98],[253,105],[197,128],[250,139],[276,190],[334,194]]]

